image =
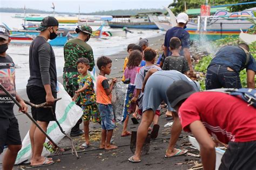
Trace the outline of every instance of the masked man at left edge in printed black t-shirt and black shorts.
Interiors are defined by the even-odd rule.
[[[18,96],[15,90],[15,65],[11,57],[6,54],[11,41],[10,33],[5,26],[0,25],[0,84],[8,90],[21,104],[19,112],[27,112],[28,107]],[[14,115],[14,101],[0,89],[0,154],[7,145],[8,149],[3,159],[3,169],[12,169],[18,151],[22,147],[21,135],[19,135],[18,120]]]

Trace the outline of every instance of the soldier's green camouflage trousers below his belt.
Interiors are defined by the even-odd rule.
[[[64,72],[63,73],[63,86],[69,96],[73,97],[75,92],[79,89],[77,82],[78,72]]]

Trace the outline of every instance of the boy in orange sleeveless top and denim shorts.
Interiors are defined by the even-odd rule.
[[[100,149],[115,149],[117,146],[111,145],[111,138],[114,128],[116,128],[116,121],[114,120],[113,107],[111,104],[112,90],[114,84],[117,82],[116,78],[112,79],[111,84],[107,81],[105,75],[111,73],[112,60],[109,57],[99,57],[97,59],[97,66],[99,75],[97,77],[97,104],[102,117],[102,139],[100,142]]]

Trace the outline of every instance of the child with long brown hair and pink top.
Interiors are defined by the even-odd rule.
[[[134,84],[137,70],[139,69],[140,62],[142,62],[142,53],[140,53],[138,50],[132,51],[129,56],[127,67],[124,71],[125,79],[130,79],[131,84]],[[136,91],[134,90],[133,96],[135,96],[135,93],[136,93]],[[131,105],[129,107],[129,111],[128,111],[129,114],[132,114],[135,112],[136,106],[137,106],[136,103],[131,103]],[[123,127],[121,137],[126,137],[127,135],[131,135],[131,132],[127,131],[127,124],[128,124],[129,117],[130,117],[129,114],[126,116],[126,119],[124,121],[124,127]]]

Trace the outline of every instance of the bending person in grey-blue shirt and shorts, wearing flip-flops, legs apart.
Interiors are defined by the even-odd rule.
[[[142,122],[138,127],[136,151],[134,155],[128,159],[130,162],[140,162],[140,155],[144,141],[147,136],[147,129],[151,125],[154,117],[154,112],[160,105],[161,101],[164,100],[165,103],[168,105],[168,109],[171,110],[172,107],[166,96],[166,91],[168,87],[177,80],[187,81],[191,86],[193,86],[194,90],[196,91],[199,91],[200,89],[198,83],[185,76],[185,74],[180,73],[176,70],[158,71],[157,69],[150,69],[147,73],[143,82],[142,89],[142,91],[144,91],[143,117]],[[172,117],[174,120],[171,130],[172,137],[170,138],[169,147],[165,153],[166,158],[183,155],[187,152],[182,149],[174,148],[181,133],[182,127],[178,114],[176,112],[172,112]]]

